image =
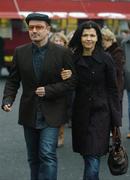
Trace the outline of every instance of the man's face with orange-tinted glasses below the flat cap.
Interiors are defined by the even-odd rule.
[[[44,21],[30,20],[28,25],[30,39],[35,43],[46,42],[50,26]]]

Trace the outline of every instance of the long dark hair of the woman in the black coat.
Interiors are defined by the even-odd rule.
[[[100,31],[100,26],[94,22],[94,21],[85,21],[82,24],[79,25],[77,30],[75,31],[72,39],[69,42],[69,48],[76,54],[82,54],[83,52],[83,46],[81,43],[81,36],[84,29],[95,29],[97,34],[97,43],[96,43],[96,49],[102,49],[102,35]]]

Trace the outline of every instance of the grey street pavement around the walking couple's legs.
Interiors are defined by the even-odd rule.
[[[0,79],[0,104],[5,85],[5,78]],[[12,112],[0,109],[0,180],[30,180],[27,163],[26,145],[23,128],[17,124],[21,90],[13,105]],[[130,159],[130,139],[128,132],[127,96],[124,92],[122,141]],[[72,151],[71,128],[65,127],[64,147],[58,148],[58,180],[82,180],[83,160]],[[100,180],[130,180],[130,168],[125,175],[112,176],[107,166],[107,156],[102,157]]]

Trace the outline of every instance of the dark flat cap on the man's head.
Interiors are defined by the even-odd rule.
[[[29,14],[29,15],[26,17],[25,21],[26,21],[27,24],[29,24],[29,21],[30,21],[30,20],[45,21],[45,22],[46,22],[47,24],[49,24],[49,25],[50,25],[50,23],[51,23],[51,20],[50,20],[50,18],[49,18],[48,15],[46,15],[46,14],[40,14],[40,13],[31,13],[31,14]]]

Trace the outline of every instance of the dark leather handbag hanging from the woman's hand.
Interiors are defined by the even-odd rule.
[[[113,145],[108,155],[108,167],[112,175],[118,176],[125,174],[128,170],[128,155],[121,145],[119,128],[114,129]]]

